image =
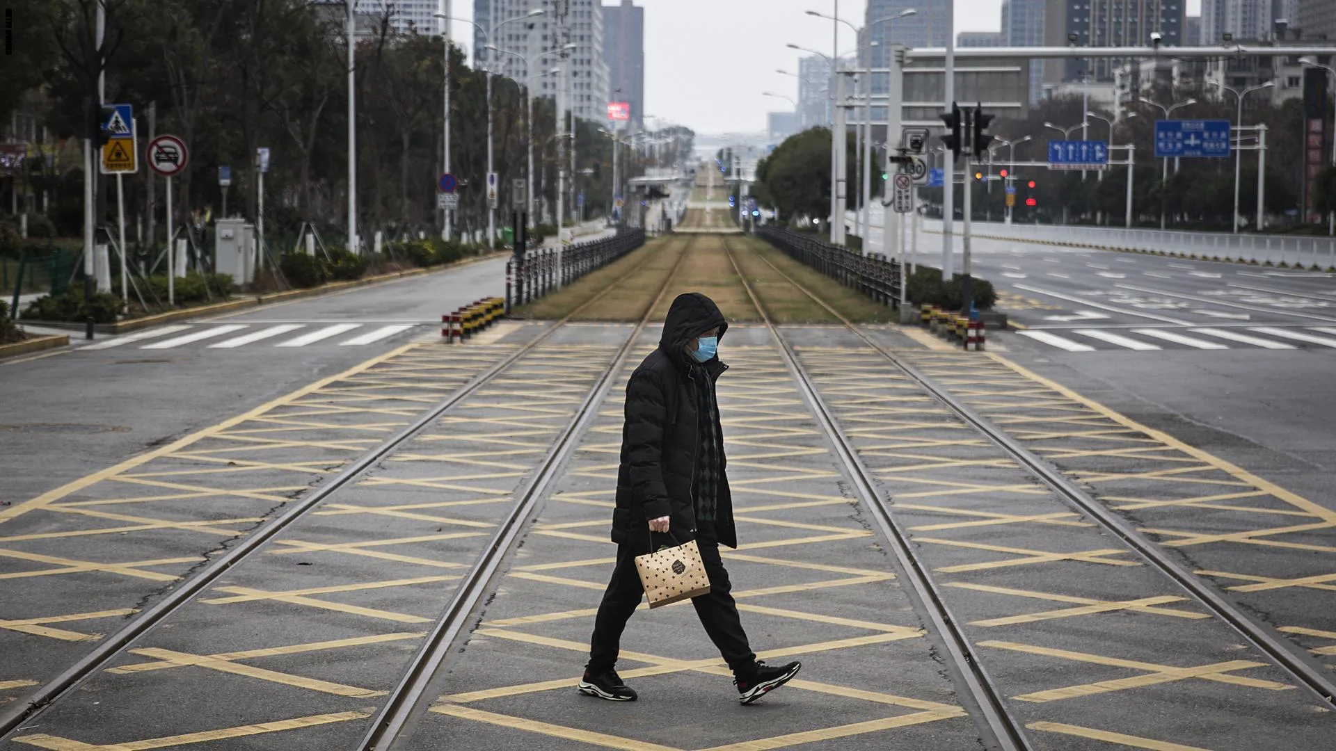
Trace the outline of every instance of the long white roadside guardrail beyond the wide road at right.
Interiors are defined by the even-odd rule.
[[[941,231],[941,220],[923,222],[927,231]],[[1304,235],[1257,235],[1240,233],[1197,233],[1185,230],[1142,230],[1128,227],[1083,227],[1071,224],[1005,224],[974,222],[977,237],[1042,242],[1104,250],[1164,253],[1206,261],[1271,263],[1304,269],[1336,267],[1336,238]]]

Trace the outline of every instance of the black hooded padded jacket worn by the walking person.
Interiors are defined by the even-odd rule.
[[[700,450],[697,384],[683,346],[700,334],[719,327],[723,338],[728,322],[715,301],[700,293],[677,295],[668,309],[659,349],[640,363],[627,384],[627,422],[621,429],[621,466],[617,469],[617,508],[612,512],[612,540],[649,552],[648,520],[672,517],[672,536],[679,543],[696,537],[696,512],[691,497]],[[711,381],[728,369],[713,357],[704,363]],[[699,370],[696,371],[699,374]],[[719,505],[715,532],[719,541],[737,547],[733,502],[720,465]]]

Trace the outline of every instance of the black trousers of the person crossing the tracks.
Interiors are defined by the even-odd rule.
[[[719,543],[708,531],[701,532],[696,545],[700,548],[700,560],[705,564],[705,575],[709,577],[709,593],[692,597],[691,604],[696,607],[700,624],[705,627],[705,633],[719,648],[733,675],[748,676],[756,669],[756,655],[747,644],[747,633],[737,617],[732,584],[728,581],[724,561],[719,557]],[[587,668],[591,673],[613,669],[617,664],[621,632],[645,595],[640,575],[636,572],[636,556],[644,552],[628,545],[617,547],[617,567],[612,572],[612,580],[608,581],[603,603],[599,604],[593,636],[589,639]]]

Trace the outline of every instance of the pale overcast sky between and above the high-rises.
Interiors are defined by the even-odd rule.
[[[935,0],[942,1],[942,0]],[[791,111],[771,91],[798,99],[798,44],[827,52],[831,21],[807,16],[830,13],[835,0],[636,0],[645,8],[645,114],[681,123],[700,134],[766,130],[766,114]],[[604,4],[615,4],[604,0]],[[1197,13],[1200,0],[1188,0]],[[840,17],[862,27],[867,0],[843,0]],[[1002,0],[955,0],[955,31],[998,31]],[[472,0],[454,0],[453,12],[473,13]],[[454,24],[452,36],[472,49],[472,31]],[[854,45],[840,24],[840,52]]]

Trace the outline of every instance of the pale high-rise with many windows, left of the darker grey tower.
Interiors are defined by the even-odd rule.
[[[540,8],[544,15],[526,17]],[[508,23],[512,19],[522,20]],[[473,0],[473,20],[488,35],[496,32],[492,43],[500,51],[493,53],[492,71],[530,86],[538,96],[557,95],[557,78],[546,72],[557,64],[561,48],[574,44],[566,53],[566,104],[577,118],[607,120],[608,65],[603,61],[603,5],[597,0]],[[474,60],[488,59],[484,39],[476,27]]]

